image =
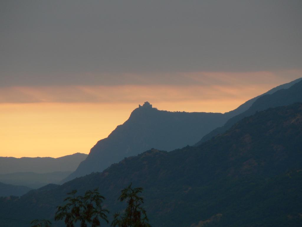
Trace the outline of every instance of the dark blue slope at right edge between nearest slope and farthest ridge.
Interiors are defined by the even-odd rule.
[[[293,104],[295,102],[302,102],[302,78],[292,81],[289,84],[286,84],[286,87],[289,87],[287,89],[281,89],[275,91],[275,89],[271,91],[275,91],[275,93],[272,94],[266,94],[262,97],[259,97],[254,101],[254,103],[249,107],[248,110],[244,111],[243,113],[240,113],[236,115],[235,117],[230,118],[224,126],[218,127],[202,137],[202,139],[195,144],[195,146],[200,145],[201,143],[211,139],[212,137],[224,133],[226,130],[228,130],[230,127],[232,127],[236,122],[243,119],[244,117],[251,116],[256,111],[265,110],[269,107],[278,107],[278,106],[284,106]],[[298,82],[297,82],[298,81]],[[294,85],[290,86],[291,84]]]

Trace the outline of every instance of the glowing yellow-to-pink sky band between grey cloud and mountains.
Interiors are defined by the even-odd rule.
[[[145,101],[159,110],[224,113],[292,80],[271,80],[265,75],[265,82],[254,84],[235,83],[236,75],[226,73],[223,78],[229,84],[3,87],[0,156],[89,153],[98,140],[124,123]],[[189,76],[198,81],[196,75]]]

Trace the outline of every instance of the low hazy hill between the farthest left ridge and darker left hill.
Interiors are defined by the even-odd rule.
[[[0,174],[0,182],[12,185],[23,185],[37,189],[50,183],[58,184],[61,180],[69,176],[70,173],[72,173],[72,171],[52,173],[7,173]]]

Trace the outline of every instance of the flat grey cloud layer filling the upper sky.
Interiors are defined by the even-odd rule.
[[[301,1],[2,1],[0,86],[301,69]],[[177,80],[176,80],[177,81]],[[185,82],[185,81],[183,81]]]

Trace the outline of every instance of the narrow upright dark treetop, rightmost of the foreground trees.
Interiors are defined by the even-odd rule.
[[[138,196],[143,188],[132,188],[132,183],[121,191],[119,200],[127,199],[127,208],[123,214],[115,213],[112,227],[151,227],[148,223],[146,210],[141,207],[143,197]]]

